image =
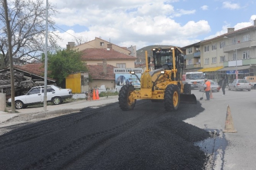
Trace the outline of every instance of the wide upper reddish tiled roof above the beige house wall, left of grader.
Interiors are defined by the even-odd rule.
[[[134,56],[120,53],[110,48],[86,48],[82,51],[82,60],[136,60]]]

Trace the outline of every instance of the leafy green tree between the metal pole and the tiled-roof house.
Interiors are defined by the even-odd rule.
[[[71,73],[87,72],[85,62],[81,61],[81,52],[78,50],[57,50],[55,54],[48,54],[48,77],[57,80],[57,85],[63,87],[65,78]],[[44,62],[44,56],[43,62]]]

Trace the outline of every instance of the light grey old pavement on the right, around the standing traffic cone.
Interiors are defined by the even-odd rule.
[[[192,90],[199,99],[202,92]],[[228,145],[222,143],[217,152],[214,170],[255,170],[256,167],[256,90],[233,91],[226,88],[214,92],[213,99],[201,101],[205,110],[198,116],[185,120],[202,129],[225,129],[227,106],[230,106],[237,133],[224,133]],[[206,95],[204,94],[204,99]],[[221,143],[221,141],[220,141]]]

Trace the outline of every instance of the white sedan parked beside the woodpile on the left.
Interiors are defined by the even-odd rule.
[[[15,108],[23,109],[29,105],[43,103],[44,86],[31,88],[26,95],[14,97]],[[55,85],[47,86],[47,102],[61,104],[65,99],[72,97],[72,90],[69,88],[60,88]],[[11,99],[8,99],[7,105],[11,106]]]

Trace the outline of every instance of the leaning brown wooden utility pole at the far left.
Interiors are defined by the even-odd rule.
[[[15,113],[15,101],[14,101],[14,67],[13,67],[13,50],[12,50],[12,35],[10,29],[10,21],[11,17],[8,17],[8,8],[7,8],[7,0],[4,1],[4,9],[5,9],[5,21],[7,27],[8,34],[8,51],[9,51],[9,62],[10,62],[10,76],[11,76],[11,103],[12,103],[12,113]]]

